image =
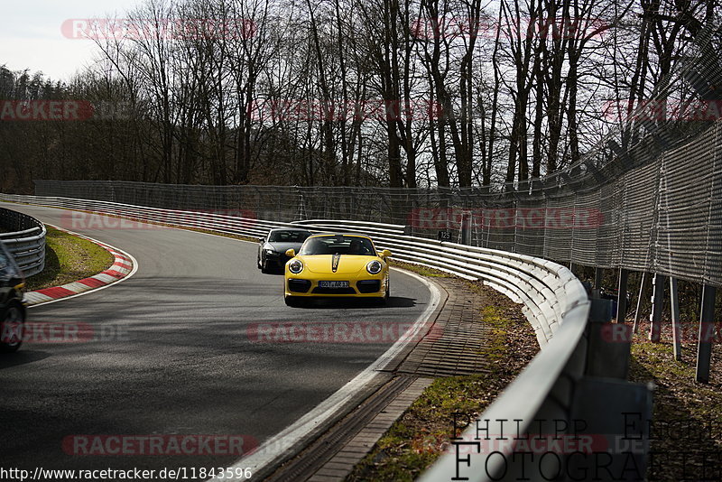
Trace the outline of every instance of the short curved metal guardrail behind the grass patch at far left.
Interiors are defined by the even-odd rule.
[[[42,272],[45,268],[45,234],[42,222],[32,216],[11,209],[0,208],[0,241],[7,246],[15,263],[25,276]]]

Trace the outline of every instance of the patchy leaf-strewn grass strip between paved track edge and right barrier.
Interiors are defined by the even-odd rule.
[[[449,448],[451,436],[458,435],[452,434],[454,413],[461,414],[461,431],[463,422],[483,412],[538,351],[536,337],[518,306],[478,283],[467,285],[484,297],[479,317],[489,327],[489,338],[479,357],[489,362],[488,371],[434,380],[356,464],[347,482],[411,481],[418,477]]]

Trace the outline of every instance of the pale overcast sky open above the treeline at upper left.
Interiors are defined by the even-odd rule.
[[[69,19],[123,18],[142,0],[3,0],[0,15],[0,65],[30,69],[54,80],[68,79],[87,64],[94,42],[69,39],[61,25]]]

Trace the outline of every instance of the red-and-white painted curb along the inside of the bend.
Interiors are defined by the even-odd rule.
[[[28,306],[34,306],[50,301],[58,301],[63,298],[69,298],[70,296],[77,296],[80,293],[95,291],[106,287],[108,284],[117,283],[135,273],[137,269],[137,262],[134,260],[132,255],[125,253],[125,251],[118,249],[115,246],[101,243],[92,237],[79,235],[78,233],[74,233],[60,227],[55,228],[69,233],[72,236],[88,239],[91,243],[95,243],[97,246],[100,246],[108,251],[111,255],[115,256],[116,259],[113,262],[113,265],[106,269],[106,271],[97,273],[95,276],[90,276],[77,282],[63,284],[62,286],[44,288],[35,292],[25,292],[25,301]]]

